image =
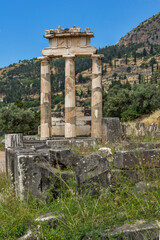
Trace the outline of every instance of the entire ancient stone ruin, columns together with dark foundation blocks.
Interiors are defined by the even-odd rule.
[[[154,183],[143,182],[142,170],[146,168],[146,175],[151,180],[155,180],[155,176],[160,173],[160,143],[129,142],[129,137],[132,134],[139,138],[146,134],[154,137],[159,133],[158,125],[153,123],[147,127],[144,123],[137,123],[131,127],[121,123],[119,118],[102,118],[103,56],[97,55],[96,48],[90,46],[90,38],[93,36],[89,28],[81,32],[76,27],[59,27],[45,32],[49,48],[43,49],[43,57],[39,58],[40,137],[23,136],[21,133],[5,135],[6,173],[14,183],[15,193],[20,200],[28,194],[47,199],[46,190],[51,186],[54,186],[52,195],[57,198],[61,184],[71,178],[76,181],[77,194],[92,192],[93,196],[119,187],[124,178],[126,181],[134,181],[134,191],[143,192],[146,187],[155,187]],[[74,60],[77,56],[92,58],[91,116],[90,112],[85,113],[79,99],[76,106]],[[65,115],[51,113],[50,61],[57,57],[65,59]],[[78,138],[80,135],[87,137]],[[102,147],[102,143],[105,147]],[[114,146],[114,154],[111,146]],[[92,154],[86,156],[84,153],[89,149]],[[157,239],[159,234],[155,223],[146,222],[139,228],[136,224],[131,226],[130,232],[128,225],[124,224],[113,230],[111,236],[121,232],[127,239],[145,239],[141,238],[142,234]],[[28,239],[32,236],[29,234]]]

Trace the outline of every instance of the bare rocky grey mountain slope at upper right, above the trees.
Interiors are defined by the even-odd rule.
[[[119,41],[119,45],[144,43],[160,45],[160,13],[139,24]]]

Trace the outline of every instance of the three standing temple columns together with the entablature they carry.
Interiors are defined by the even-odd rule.
[[[65,138],[76,137],[75,58],[92,58],[91,136],[102,137],[102,58],[97,49],[90,46],[94,34],[90,28],[46,30],[49,48],[42,50],[41,60],[41,138],[52,136],[50,61],[65,59]]]

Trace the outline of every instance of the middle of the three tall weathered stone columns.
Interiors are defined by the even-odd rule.
[[[65,138],[76,137],[75,56],[65,55]]]

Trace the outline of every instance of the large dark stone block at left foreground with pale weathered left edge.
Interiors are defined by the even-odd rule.
[[[14,155],[14,185],[16,195],[23,200],[28,194],[46,198],[46,190],[54,185],[57,195],[63,181],[73,177],[72,172],[60,172],[51,167],[47,150],[38,152],[15,150]],[[62,181],[63,180],[63,181]]]

